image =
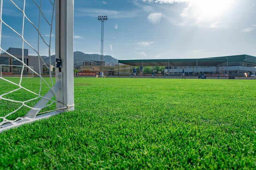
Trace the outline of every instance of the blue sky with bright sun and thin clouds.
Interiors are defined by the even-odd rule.
[[[103,54],[119,60],[256,56],[255,4],[256,0],[74,0],[74,51],[100,54],[97,17],[107,15]],[[47,39],[49,33],[43,36]],[[20,48],[10,43],[3,44],[2,38],[1,46]]]

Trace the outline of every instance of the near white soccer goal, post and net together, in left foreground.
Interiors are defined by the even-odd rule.
[[[31,9],[32,6],[33,9]],[[9,14],[5,12],[8,11],[7,9],[20,14],[20,17],[15,18],[15,20],[19,19],[17,24],[13,23],[14,20],[10,20]],[[51,16],[49,16],[49,10],[52,10]],[[37,11],[37,17],[35,17],[35,11]],[[54,20],[55,24],[53,24]],[[22,24],[18,25],[18,23]],[[1,68],[0,132],[28,122],[49,118],[63,111],[74,110],[73,23],[74,0],[23,0],[22,2],[0,0],[0,64],[4,66],[12,65],[13,61],[18,62],[21,72],[18,78],[7,78],[2,77]],[[31,30],[26,31],[27,28]],[[53,35],[55,46],[52,45]],[[31,40],[30,36],[37,39]],[[16,54],[17,50],[11,52],[4,49],[6,48],[4,44],[12,45],[8,37],[21,40],[20,54]],[[47,57],[42,54],[45,47],[48,49]],[[32,53],[36,56],[31,57],[26,54],[26,48],[33,51]],[[52,52],[55,52],[54,61],[51,60]],[[36,71],[35,67],[29,66],[30,58],[25,58],[25,54],[30,58],[37,58]],[[52,76],[50,72],[49,76],[45,77],[41,67],[46,65],[50,70],[52,62],[55,63],[55,75]],[[31,70],[36,76],[33,82],[38,83],[37,89],[26,82],[22,74],[25,70]]]

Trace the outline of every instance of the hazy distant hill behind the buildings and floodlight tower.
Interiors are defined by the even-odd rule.
[[[49,57],[42,56],[46,64],[49,64]],[[101,61],[100,54],[85,54],[81,51],[74,52],[74,66],[83,65],[83,61]],[[103,61],[108,65],[118,64],[118,60],[110,55],[103,55]],[[55,65],[55,55],[51,56],[51,65]]]

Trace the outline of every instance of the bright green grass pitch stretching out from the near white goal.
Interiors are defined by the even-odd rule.
[[[0,133],[0,169],[256,169],[255,83],[74,78],[75,111]]]

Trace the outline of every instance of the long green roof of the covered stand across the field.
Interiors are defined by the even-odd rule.
[[[256,57],[249,55],[233,55],[203,59],[146,59],[118,60],[118,63],[132,66],[216,66],[222,63],[246,62],[256,64]]]

